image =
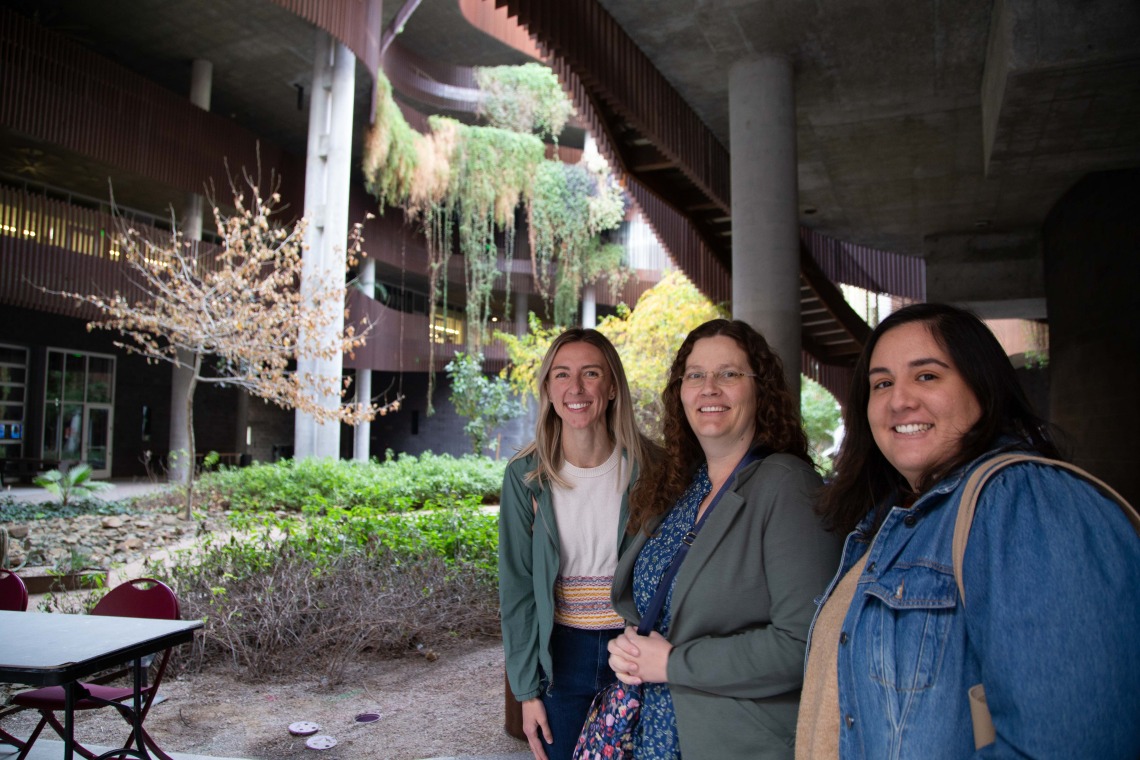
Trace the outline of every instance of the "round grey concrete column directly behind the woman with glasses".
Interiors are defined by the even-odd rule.
[[[799,399],[799,222],[791,62],[762,56],[728,72],[732,313],[758,329]]]

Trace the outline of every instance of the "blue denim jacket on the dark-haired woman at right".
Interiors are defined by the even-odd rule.
[[[982,492],[951,561],[971,463],[878,534],[847,537],[820,606],[864,554],[840,634],[839,757],[1140,757],[1140,538],[1092,485],[1017,464]],[[808,645],[811,646],[811,644]],[[984,683],[996,743],[975,752],[967,689]]]

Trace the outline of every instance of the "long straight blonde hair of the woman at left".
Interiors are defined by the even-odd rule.
[[[549,483],[557,483],[563,488],[569,488],[569,483],[559,475],[565,458],[562,453],[562,418],[554,411],[554,404],[549,395],[551,367],[554,365],[554,357],[559,350],[570,343],[588,343],[602,352],[605,358],[606,368],[613,377],[614,394],[605,408],[605,431],[610,440],[622,451],[629,461],[629,473],[640,469],[645,460],[649,447],[652,446],[641,431],[637,430],[637,422],[634,419],[634,402],[629,395],[629,383],[626,381],[626,370],[621,366],[621,358],[618,357],[617,349],[610,340],[596,329],[583,327],[571,327],[563,332],[551,343],[543,363],[538,368],[538,420],[535,423],[535,440],[522,448],[513,459],[537,455],[537,465],[527,473],[527,482],[537,482],[539,487]],[[513,460],[512,459],[512,460]]]

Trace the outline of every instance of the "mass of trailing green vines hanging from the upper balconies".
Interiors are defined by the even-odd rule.
[[[620,224],[626,211],[604,161],[596,153],[576,165],[545,158],[540,138],[556,141],[572,114],[554,74],[528,64],[479,70],[477,79],[484,92],[480,113],[491,125],[432,116],[430,131],[421,134],[408,125],[391,84],[378,74],[376,119],[363,163],[366,188],[381,211],[386,205],[404,209],[427,239],[431,325],[438,305],[446,304],[448,260],[457,242],[471,352],[479,352],[486,340],[491,295],[502,276],[497,237],[502,235],[510,261],[520,205],[528,216],[535,278],[547,304],[553,295],[559,324],[572,319],[583,286],[601,277],[620,284],[625,272],[620,246],[605,246],[600,238]],[[510,288],[510,277],[504,279]],[[510,303],[510,292],[505,300]],[[434,341],[430,350],[434,367]]]

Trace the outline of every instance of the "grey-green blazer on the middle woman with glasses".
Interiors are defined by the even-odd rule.
[[[685,760],[793,755],[814,600],[841,550],[812,509],[820,485],[791,455],[748,465],[677,572],[667,672]],[[640,620],[634,562],[646,540],[637,534],[613,575],[614,607],[630,624]]]

